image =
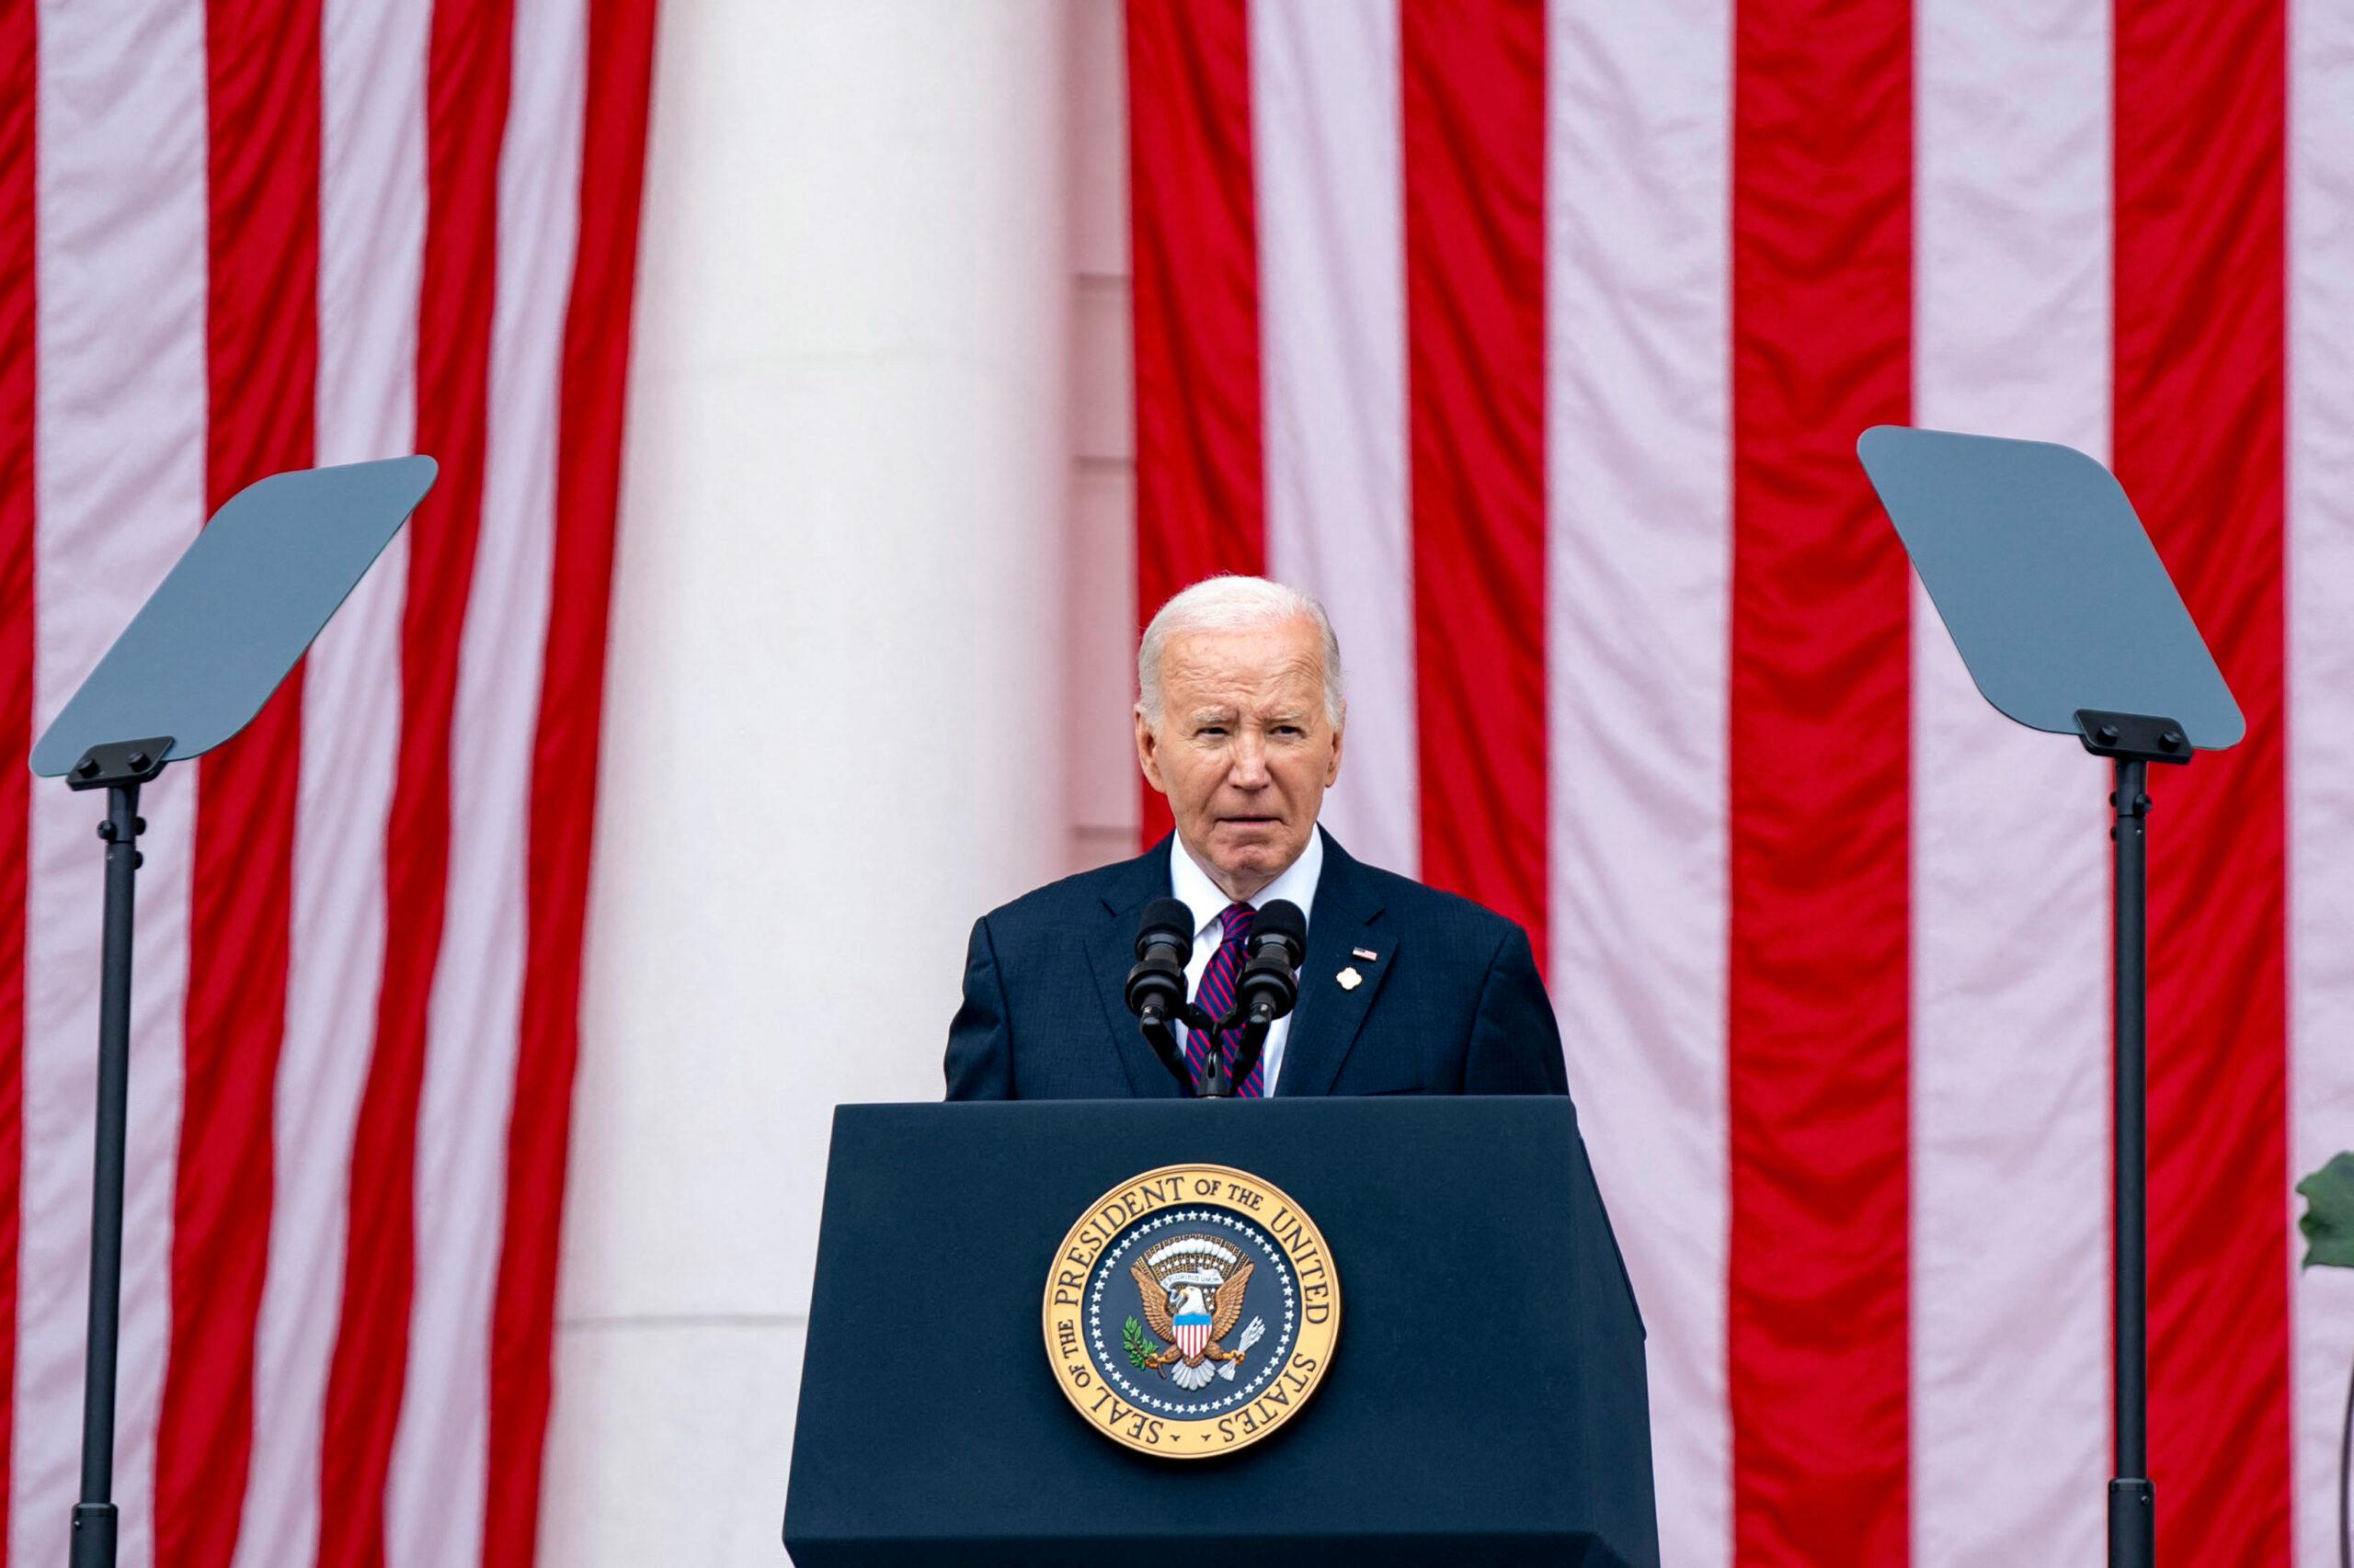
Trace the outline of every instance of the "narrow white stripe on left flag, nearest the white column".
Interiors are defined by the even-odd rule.
[[[586,45],[586,0],[518,0],[506,146],[534,155],[499,160],[490,440],[450,735],[450,888],[417,1116],[410,1377],[386,1479],[391,1568],[471,1561],[483,1542]]]

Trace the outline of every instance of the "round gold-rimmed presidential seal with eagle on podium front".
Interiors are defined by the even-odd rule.
[[[1226,1165],[1121,1182],[1071,1227],[1045,1283],[1045,1354],[1071,1406],[1165,1460],[1248,1448],[1332,1366],[1339,1278],[1278,1187]]]

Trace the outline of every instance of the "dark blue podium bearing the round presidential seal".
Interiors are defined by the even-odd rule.
[[[1113,1441],[1066,1387],[1088,1377],[1069,1309],[1055,1354],[1055,1278],[1073,1255],[1113,1260],[1123,1222],[1146,1229],[1132,1257],[1078,1267],[1090,1302],[1109,1290],[1099,1311],[1111,1326],[1097,1333],[1113,1337],[1118,1361],[1118,1318],[1151,1285],[1121,1264],[1161,1257],[1163,1236],[1182,1243],[1215,1215],[1172,1208],[1172,1229],[1156,1231],[1151,1196],[1142,1210],[1135,1196],[1104,1208],[1104,1196],[1144,1172],[1203,1165],[1248,1172],[1283,1198],[1210,1227],[1238,1245],[1255,1229],[1283,1231],[1285,1203],[1314,1220],[1321,1248],[1295,1248],[1314,1255],[1299,1297],[1323,1300],[1311,1278],[1321,1285],[1328,1262],[1337,1311],[1318,1382],[1276,1413],[1278,1429],[1226,1450],[1201,1422],[1191,1439],[1208,1457],[1172,1460]],[[1090,1220],[1099,1208],[1109,1220]],[[1179,1262],[1161,1264],[1172,1302],[1193,1278]],[[1269,1344],[1250,1351],[1262,1361],[1241,1356],[1241,1382],[1215,1382],[1217,1358],[1203,1361],[1193,1398],[1236,1389],[1233,1406],[1255,1387],[1250,1366],[1285,1351],[1290,1293],[1271,1278],[1262,1264],[1250,1297],[1252,1318],[1274,1321]],[[1250,1342],[1241,1323],[1217,1333]],[[1144,1347],[1163,1349],[1151,1335]],[[1179,1354],[1172,1342],[1161,1358]],[[1179,1366],[1116,1370],[1146,1389],[1142,1403],[1161,1403],[1151,1391],[1189,1398],[1165,1380]],[[1142,1420],[1135,1431],[1163,1441]],[[798,1568],[1172,1552],[1653,1568],[1643,1323],[1570,1102],[840,1107],[784,1542]]]

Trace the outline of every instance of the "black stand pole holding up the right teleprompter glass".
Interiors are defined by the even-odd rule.
[[[2182,725],[2142,713],[2076,713],[2083,746],[2109,758],[2116,789],[2116,1474],[2109,1568],[2152,1568],[2149,1486],[2149,765],[2187,763]]]

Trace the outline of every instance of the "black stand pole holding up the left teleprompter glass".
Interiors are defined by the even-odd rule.
[[[122,1323],[122,1147],[132,1074],[132,911],[139,892],[139,786],[162,772],[172,737],[92,746],[73,789],[106,791],[106,916],[99,958],[99,1137],[89,1184],[89,1342],[82,1358],[82,1500],[71,1568],[115,1561],[115,1337]]]

